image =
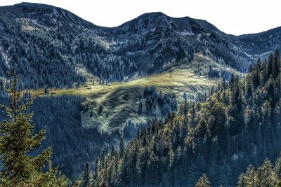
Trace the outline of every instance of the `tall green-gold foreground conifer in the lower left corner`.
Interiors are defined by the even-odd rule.
[[[46,130],[34,134],[33,113],[28,111],[32,101],[22,99],[15,72],[12,76],[6,90],[8,104],[0,104],[7,116],[0,123],[0,186],[67,186],[67,180],[58,174],[58,168],[51,167],[51,148],[32,156],[32,151],[45,139]],[[48,162],[48,172],[43,172]]]

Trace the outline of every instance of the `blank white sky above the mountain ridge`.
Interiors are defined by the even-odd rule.
[[[22,0],[21,0],[22,1]],[[0,6],[20,0],[0,0]],[[143,13],[207,20],[228,34],[263,32],[281,26],[280,0],[26,0],[65,8],[95,25],[114,27]]]

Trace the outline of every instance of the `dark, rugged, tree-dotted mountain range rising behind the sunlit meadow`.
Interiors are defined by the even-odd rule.
[[[65,88],[124,81],[190,64],[195,53],[247,71],[280,48],[280,28],[233,36],[204,20],[146,13],[119,27],[98,27],[62,8],[21,3],[0,7],[0,76],[17,65],[22,88]]]

